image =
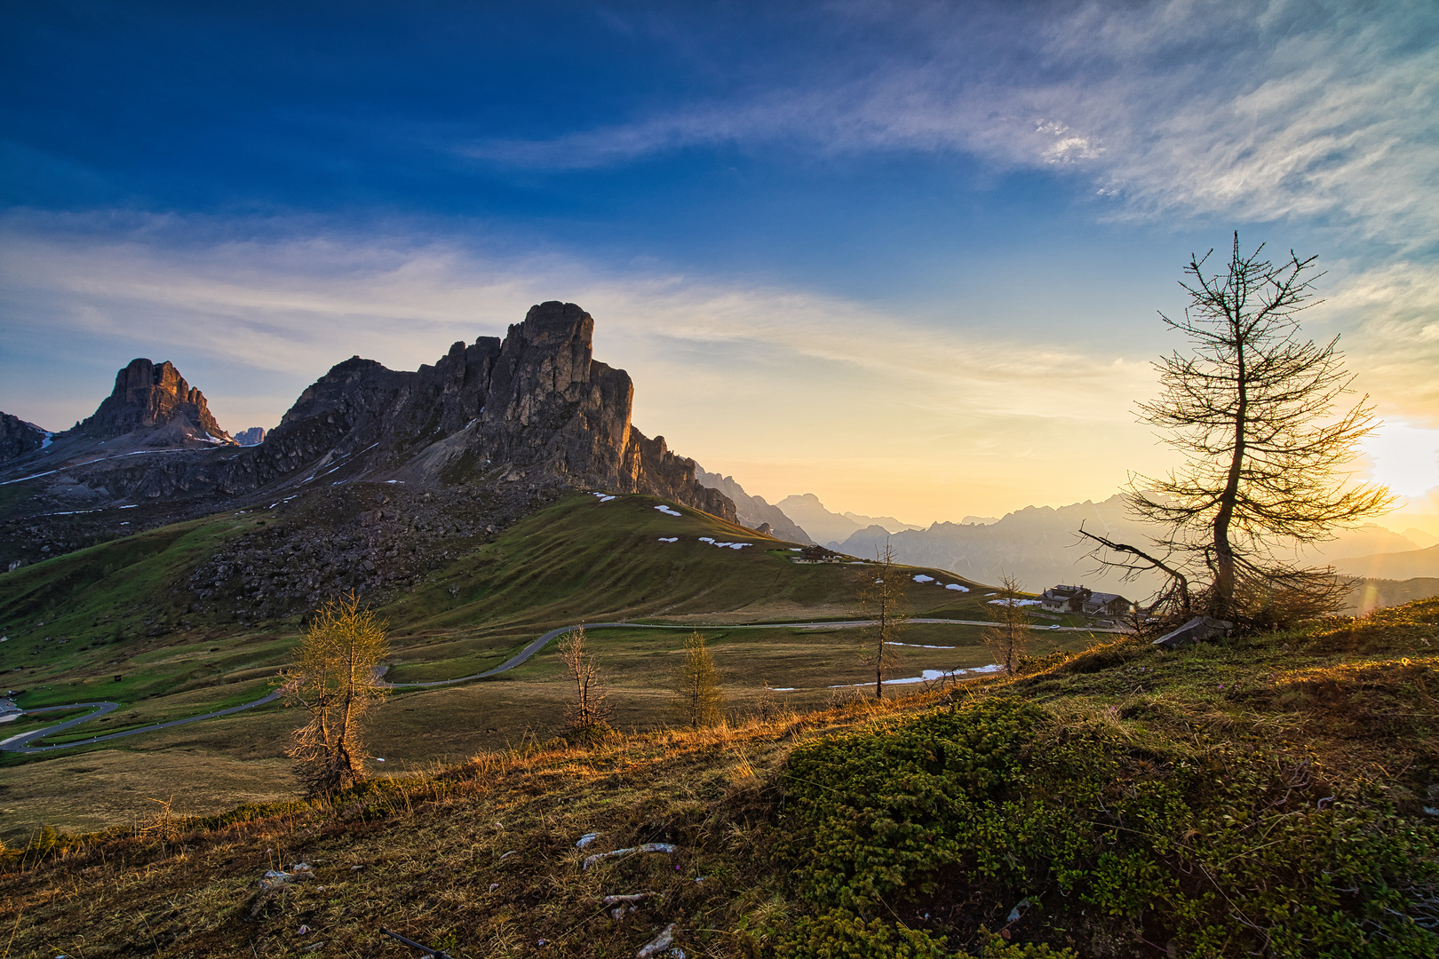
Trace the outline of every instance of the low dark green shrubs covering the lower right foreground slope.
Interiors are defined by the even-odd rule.
[[[1236,746],[1135,749],[991,697],[790,758],[773,850],[813,913],[780,956],[1433,956],[1430,827]],[[1010,945],[1002,943],[1010,949]]]

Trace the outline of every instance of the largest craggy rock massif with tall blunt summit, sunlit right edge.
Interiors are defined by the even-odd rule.
[[[530,309],[504,341],[456,342],[397,372],[354,357],[307,388],[227,485],[301,466],[410,483],[495,480],[643,492],[735,519],[695,464],[630,424],[635,385],[591,355],[594,319],[574,303]]]

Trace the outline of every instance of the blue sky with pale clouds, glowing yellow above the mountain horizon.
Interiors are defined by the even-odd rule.
[[[1000,515],[1173,463],[1158,313],[1239,230],[1439,533],[1436,91],[1427,0],[6,0],[0,410],[148,357],[269,428],[560,299],[750,493]]]

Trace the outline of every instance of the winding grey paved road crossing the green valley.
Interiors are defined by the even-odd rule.
[[[953,624],[953,625],[994,625],[990,620],[924,620],[911,618],[909,623],[927,623],[927,624]],[[430,689],[435,686],[453,686],[455,683],[468,683],[476,679],[488,679],[491,676],[498,676],[499,673],[508,673],[515,669],[531,656],[543,650],[550,640],[557,635],[564,635],[577,628],[586,630],[609,630],[609,628],[626,628],[626,630],[852,630],[865,625],[873,625],[873,620],[840,620],[840,621],[807,621],[807,623],[738,623],[738,624],[718,624],[707,625],[696,623],[686,624],[653,624],[653,623],[577,623],[574,625],[561,625],[555,630],[550,630],[540,638],[531,641],[522,650],[511,656],[508,660],[496,666],[495,669],[485,670],[484,673],[473,673],[471,676],[458,676],[455,679],[437,679],[429,683],[380,683],[387,689]],[[1030,625],[1032,630],[1050,630],[1049,625]],[[1124,630],[1095,630],[1089,627],[1065,625],[1059,627],[1056,631],[1068,633],[1124,633]],[[253,702],[242,703],[239,706],[230,706],[229,709],[216,709],[209,713],[201,713],[199,716],[186,716],[184,719],[171,719],[164,723],[153,723],[150,726],[138,726],[135,729],[124,729],[121,732],[106,733],[104,736],[92,736],[91,739],[79,739],[76,742],[66,742],[52,746],[32,746],[30,743],[36,739],[43,739],[46,736],[53,736],[56,733],[65,732],[72,726],[79,726],[81,723],[89,722],[92,719],[99,719],[106,713],[112,713],[119,709],[119,703],[71,703],[68,706],[42,706],[39,709],[27,709],[23,715],[30,716],[35,713],[53,713],[69,709],[89,709],[94,712],[85,713],[83,716],[76,716],[75,719],[66,719],[63,723],[56,723],[55,726],[46,726],[43,729],[33,729],[26,733],[17,733],[9,739],[0,739],[0,752],[20,752],[20,753],[40,753],[50,752],[55,749],[75,749],[76,746],[89,746],[98,742],[106,742],[109,739],[121,739],[124,736],[138,736],[140,733],[155,732],[157,729],[170,729],[171,726],[184,726],[186,723],[197,723],[201,719],[214,719],[216,716],[232,716],[235,713],[245,712],[246,709],[255,709],[256,706],[265,706],[266,703],[273,703],[279,699],[279,690],[262,696]]]

